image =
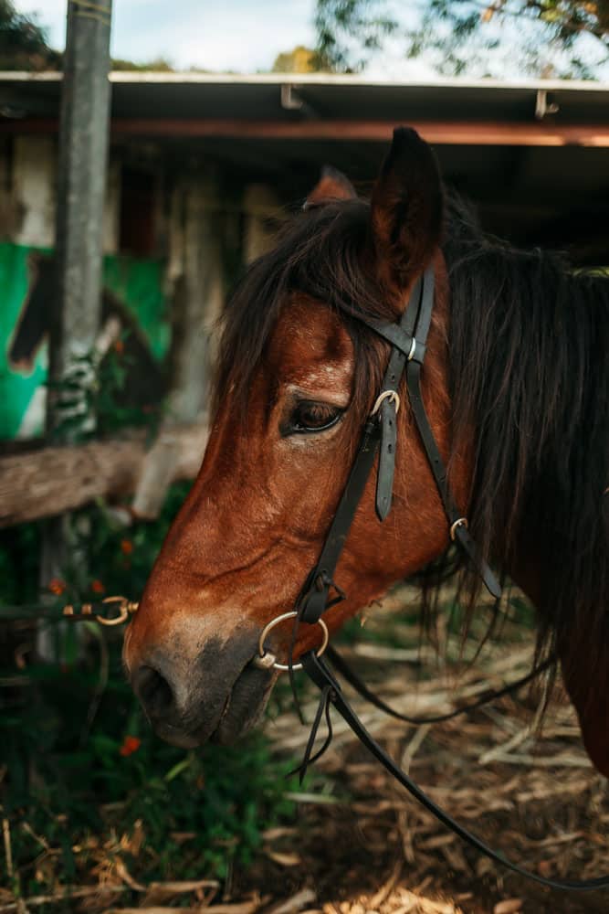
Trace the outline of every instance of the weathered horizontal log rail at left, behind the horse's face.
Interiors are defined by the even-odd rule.
[[[161,432],[154,446],[171,447],[172,481],[194,479],[206,441],[205,424]],[[150,449],[142,431],[120,440],[0,456],[0,527],[63,514],[96,498],[134,492]]]

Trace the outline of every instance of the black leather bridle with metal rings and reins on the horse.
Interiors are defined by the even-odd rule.
[[[299,768],[301,775],[306,771],[310,762],[320,757],[321,753],[330,745],[331,731],[331,707],[335,707],[345,722],[352,728],[353,733],[361,740],[364,746],[373,753],[373,756],[381,762],[386,771],[389,771],[394,778],[399,781],[407,791],[409,791],[425,809],[436,816],[440,822],[446,825],[452,832],[461,837],[467,844],[475,847],[481,854],[488,856],[495,863],[506,866],[508,869],[520,876],[530,878],[543,886],[560,889],[573,889],[579,891],[590,891],[596,888],[609,887],[609,876],[597,877],[585,880],[557,880],[539,876],[530,870],[506,860],[498,851],[493,850],[485,844],[477,835],[472,834],[463,825],[459,824],[444,809],[436,805],[427,794],[413,781],[405,771],[391,759],[384,749],[373,739],[373,736],[362,724],[346,697],[343,694],[341,685],[336,675],[331,672],[328,664],[322,658],[328,647],[328,629],[323,621],[323,614],[330,610],[346,595],[341,587],[334,580],[334,573],[341,558],[341,552],[345,540],[352,526],[353,518],[358,505],[362,499],[364,488],[368,479],[373,472],[373,465],[378,453],[378,470],[376,477],[376,499],[375,508],[379,519],[383,521],[389,514],[392,504],[392,494],[394,489],[395,473],[395,450],[397,444],[397,412],[400,408],[400,395],[398,388],[404,377],[406,380],[406,391],[410,408],[415,419],[416,428],[423,444],[425,455],[436,482],[436,488],[440,495],[442,505],[446,514],[450,539],[461,548],[467,555],[469,561],[477,570],[478,575],[484,582],[488,592],[496,600],[501,596],[501,588],[495,575],[489,569],[485,558],[481,555],[478,547],[472,539],[468,526],[467,517],[459,512],[455,500],[448,486],[446,467],[440,456],[434,432],[431,429],[425,405],[421,394],[421,371],[425,360],[425,351],[427,335],[431,325],[431,317],[434,306],[434,269],[428,267],[415,282],[413,291],[404,313],[399,321],[394,324],[384,323],[375,320],[365,314],[348,311],[352,319],[365,324],[373,333],[380,336],[385,342],[391,345],[389,361],[383,376],[383,383],[376,398],[370,416],[365,422],[362,430],[362,437],[355,459],[352,463],[352,469],[349,473],[347,483],[341,495],[341,500],[336,509],[336,513],[331,521],[330,529],[326,535],[323,547],[321,548],[320,558],[316,565],[310,570],[305,584],[300,590],[299,597],[296,600],[296,608],[293,611],[282,613],[280,616],[268,622],[268,625],[260,633],[258,643],[258,656],[254,664],[263,668],[274,668],[278,670],[289,671],[290,678],[294,670],[304,668],[310,679],[320,689],[320,704],[317,714],[311,728],[310,739],[305,751],[304,760]],[[292,631],[292,641],[289,650],[289,663],[278,664],[274,654],[270,654],[265,646],[268,633],[286,619],[294,620]],[[300,623],[309,625],[320,625],[322,631],[322,643],[316,651],[310,651],[304,654],[300,659],[300,664],[292,662],[292,653],[296,643],[298,627]],[[492,693],[483,699],[478,699],[472,705],[459,708],[457,711],[449,712],[446,715],[436,717],[406,717],[397,714],[391,707],[385,705],[365,685],[361,680],[352,673],[348,665],[333,649],[329,649],[331,662],[335,669],[339,670],[347,681],[360,692],[362,696],[370,701],[376,707],[382,707],[387,713],[394,717],[399,717],[410,723],[433,723],[445,720],[450,717],[456,717],[471,710],[473,707],[479,707],[488,700],[492,700],[508,692],[515,691],[522,685],[530,682],[535,676],[543,670],[548,669],[554,662],[554,658],[549,658],[542,664],[538,664],[529,675],[523,676],[517,682]],[[324,745],[315,754],[312,755],[313,744],[320,726],[321,719],[325,716],[328,725],[328,738]]]

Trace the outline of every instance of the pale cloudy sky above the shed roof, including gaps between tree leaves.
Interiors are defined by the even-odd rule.
[[[20,13],[37,15],[38,24],[47,28],[51,47],[64,47],[66,0],[13,2]],[[165,58],[174,69],[268,71],[282,51],[297,45],[314,47],[315,5],[315,0],[112,0],[110,53],[139,63]],[[390,0],[394,15],[411,27],[424,5],[423,0]],[[521,71],[514,53],[527,30],[518,20],[497,27],[493,75],[507,80],[530,77]],[[538,33],[538,40],[545,38]],[[583,57],[591,63],[599,53],[596,42],[592,37],[581,40]],[[484,75],[485,66],[477,72],[472,63],[468,75]],[[432,59],[405,58],[404,44],[397,39],[384,42],[383,53],[372,58],[365,74],[379,80],[437,79]],[[596,78],[609,80],[609,61],[597,69]]]

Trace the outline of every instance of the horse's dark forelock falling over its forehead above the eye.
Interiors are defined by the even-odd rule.
[[[222,334],[213,385],[218,409],[231,389],[245,414],[251,380],[279,314],[294,293],[324,303],[352,336],[356,350],[353,399],[365,409],[383,366],[383,345],[349,312],[393,318],[375,281],[369,256],[370,207],[360,199],[311,207],[290,218],[272,250],[254,261],[236,286],[222,316]]]

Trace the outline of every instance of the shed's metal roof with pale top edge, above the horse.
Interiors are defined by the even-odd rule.
[[[467,140],[467,131],[478,143],[505,142],[501,128],[512,128],[516,144],[609,145],[609,84],[121,71],[110,81],[121,133],[158,135],[164,126],[165,133],[227,135],[233,121],[250,136],[328,139],[336,125],[351,139],[379,140],[388,125],[410,122],[427,124],[435,142],[443,142],[443,124],[448,142]],[[0,72],[4,122],[56,116],[60,84],[59,73]]]

